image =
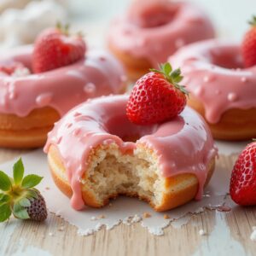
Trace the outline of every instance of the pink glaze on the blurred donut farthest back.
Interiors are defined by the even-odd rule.
[[[137,0],[113,20],[108,43],[158,67],[181,46],[213,37],[211,21],[193,3]]]

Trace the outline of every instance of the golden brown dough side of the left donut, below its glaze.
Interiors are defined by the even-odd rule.
[[[58,119],[60,114],[49,107],[34,109],[26,117],[0,113],[0,147],[42,147]]]

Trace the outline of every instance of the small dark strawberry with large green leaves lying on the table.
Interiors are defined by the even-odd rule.
[[[44,221],[47,210],[43,196],[34,187],[43,177],[34,174],[24,175],[22,160],[14,165],[13,178],[0,171],[0,222],[9,219],[13,213],[15,218],[31,218]]]

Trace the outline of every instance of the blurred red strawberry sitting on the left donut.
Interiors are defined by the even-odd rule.
[[[81,35],[70,36],[68,26],[49,28],[42,32],[34,44],[32,67],[42,73],[70,65],[84,58],[85,43]]]

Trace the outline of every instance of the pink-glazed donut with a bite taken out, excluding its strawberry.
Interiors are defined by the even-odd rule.
[[[134,125],[127,101],[125,95],[89,100],[49,133],[44,152],[72,207],[103,207],[120,194],[159,212],[200,200],[217,154],[204,120],[185,108],[162,124]]]

